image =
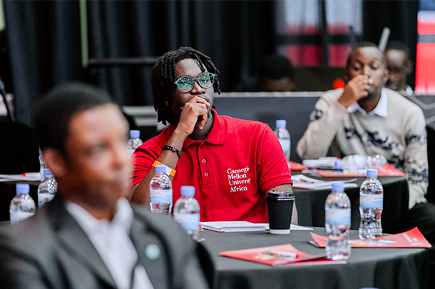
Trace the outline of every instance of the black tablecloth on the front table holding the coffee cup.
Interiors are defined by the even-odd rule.
[[[429,255],[426,249],[352,248],[346,264],[272,267],[222,257],[220,252],[290,243],[312,255],[324,253],[308,243],[309,232],[326,235],[324,228],[293,230],[290,235],[268,231],[216,233],[205,230],[200,238],[218,270],[218,288],[429,288]],[[351,238],[358,238],[352,230]]]

